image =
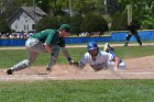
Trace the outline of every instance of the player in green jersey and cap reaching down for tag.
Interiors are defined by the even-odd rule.
[[[59,49],[63,50],[64,56],[67,58],[69,64],[74,63],[65,47],[65,37],[70,32],[68,24],[62,24],[58,30],[45,30],[32,35],[26,42],[28,58],[21,63],[14,65],[10,69],[6,70],[8,75],[12,75],[13,71],[19,71],[28,68],[38,56],[40,53],[50,53],[51,59],[46,69],[52,70],[52,67],[56,64],[56,59],[59,54]]]

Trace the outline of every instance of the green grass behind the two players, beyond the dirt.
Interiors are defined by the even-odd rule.
[[[114,47],[117,56],[121,57],[122,59],[128,58],[135,58],[135,57],[143,57],[143,56],[152,56],[154,55],[153,46],[131,46],[131,47]],[[102,48],[100,48],[102,49]],[[87,48],[68,48],[70,56],[75,60],[80,60],[82,55],[87,52]],[[26,52],[24,49],[6,49],[0,50],[0,68],[8,68],[13,66],[16,63],[20,63],[26,58]],[[50,54],[44,53],[40,54],[37,59],[32,66],[46,66],[50,59]],[[67,64],[66,58],[63,54],[59,54],[57,64]]]

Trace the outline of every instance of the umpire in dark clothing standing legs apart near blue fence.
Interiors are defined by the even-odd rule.
[[[135,36],[138,43],[140,44],[140,46],[142,46],[142,42],[141,42],[141,38],[139,36],[138,29],[139,29],[139,26],[133,21],[131,21],[130,25],[127,27],[129,33],[127,34],[127,39],[125,39],[124,46],[128,46],[129,41],[130,41],[132,35]]]

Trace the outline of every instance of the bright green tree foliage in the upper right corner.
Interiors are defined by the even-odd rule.
[[[132,4],[133,18],[140,21],[142,29],[154,29],[154,1],[153,0],[119,0],[124,5]]]

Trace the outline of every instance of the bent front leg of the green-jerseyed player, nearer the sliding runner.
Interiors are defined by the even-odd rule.
[[[53,66],[56,64],[56,59],[59,54],[59,46],[58,45],[53,46],[52,50],[53,50],[53,54],[51,54],[51,58],[50,58],[48,65],[46,67],[46,70],[48,70],[48,71],[51,71]]]

